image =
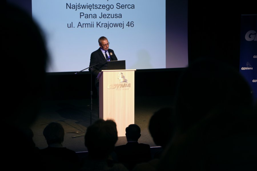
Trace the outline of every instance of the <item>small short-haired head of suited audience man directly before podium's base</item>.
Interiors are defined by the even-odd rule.
[[[126,128],[127,141],[138,141],[138,139],[141,136],[140,131],[141,129],[138,125],[136,124],[128,125],[128,127]]]

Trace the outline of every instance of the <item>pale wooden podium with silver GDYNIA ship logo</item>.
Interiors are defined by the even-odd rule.
[[[132,70],[102,70],[99,80],[99,117],[117,124],[118,137],[134,124],[134,73]]]

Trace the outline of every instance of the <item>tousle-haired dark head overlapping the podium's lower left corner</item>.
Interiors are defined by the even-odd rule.
[[[112,120],[98,119],[87,128],[85,146],[94,159],[107,159],[118,140],[117,125]]]

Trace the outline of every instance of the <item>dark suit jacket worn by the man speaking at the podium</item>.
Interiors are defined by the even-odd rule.
[[[113,60],[118,60],[112,49],[108,49],[109,54],[110,54],[110,52],[113,53]],[[89,72],[92,72],[93,78],[95,78],[96,85],[99,84],[99,82],[96,78],[97,75],[99,74],[99,72],[101,72],[102,70],[107,70],[107,61],[102,62],[104,60],[106,60],[106,59],[100,48],[91,53],[89,66],[93,66],[95,64],[97,64],[97,65],[93,66],[92,70],[90,68],[88,70],[89,70]],[[102,63],[100,63],[100,62],[102,62]]]

